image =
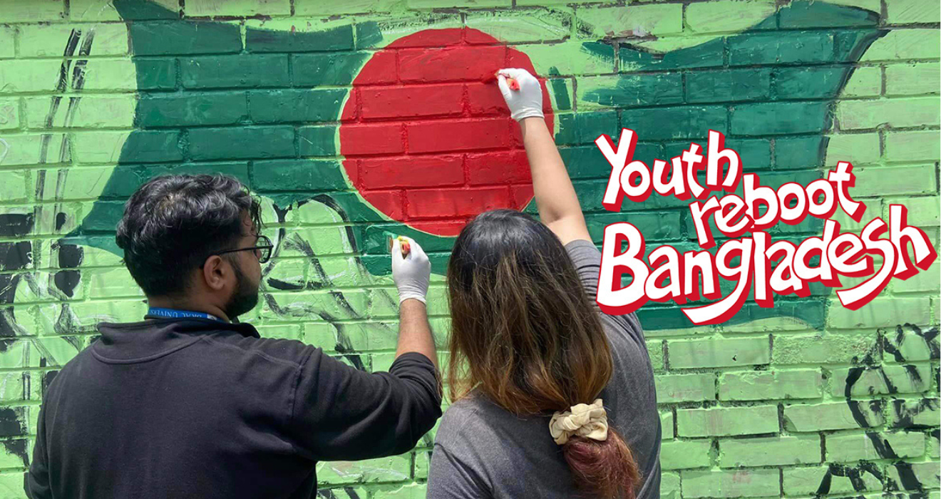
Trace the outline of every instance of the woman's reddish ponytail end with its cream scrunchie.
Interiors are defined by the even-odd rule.
[[[624,439],[608,427],[601,399],[556,412],[549,428],[580,491],[601,499],[634,499],[641,478],[637,461]]]

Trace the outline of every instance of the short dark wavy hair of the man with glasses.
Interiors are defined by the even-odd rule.
[[[206,258],[234,249],[245,235],[246,214],[260,231],[258,200],[232,177],[165,175],[141,185],[124,204],[116,239],[147,296],[181,295]]]

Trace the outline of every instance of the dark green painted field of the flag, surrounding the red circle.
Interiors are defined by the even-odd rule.
[[[306,159],[337,153],[336,125],[303,125],[338,121],[346,97],[344,89],[311,90],[311,87],[349,86],[369,56],[355,50],[375,46],[382,40],[379,24],[368,22],[312,32],[249,26],[243,52],[237,25],[180,20],[177,12],[140,0],[115,0],[114,5],[124,19],[146,20],[130,24],[141,103],[136,117],[140,129],[132,133],[124,144],[119,168],[105,185],[102,199],[94,203],[81,227],[70,234],[72,239],[120,254],[110,234],[120,219],[122,200],[137,185],[164,172],[223,171],[236,176],[282,208],[319,201],[338,210],[350,222],[364,223],[354,227],[352,232],[363,254],[362,262],[373,274],[389,271],[385,248],[388,233],[416,238],[431,255],[434,270],[443,273],[447,252],[454,243],[453,237],[420,233],[403,224],[382,219],[356,193],[346,190],[349,186],[337,160]],[[563,146],[562,153],[572,171],[596,240],[600,241],[603,224],[616,218],[640,224],[651,240],[671,241],[678,248],[695,248],[689,242],[690,234],[685,222],[681,221],[685,220],[684,201],[653,196],[642,204],[626,205],[625,213],[620,215],[601,208],[603,179],[610,173],[610,166],[600,158],[592,142],[600,134],[618,137],[621,126],[641,133],[643,142],[638,145],[636,157],[646,162],[652,162],[655,157],[667,159],[681,151],[678,141],[701,141],[710,129],[714,129],[726,133],[730,145],[740,144],[738,147],[742,148],[746,169],[768,169],[772,139],[784,143],[792,138],[805,139],[800,145],[788,143],[793,146],[790,149],[775,150],[775,168],[822,165],[824,137],[821,134],[828,126],[832,104],[827,99],[832,99],[842,89],[852,72],[851,64],[882,32],[872,21],[877,16],[866,10],[821,2],[794,2],[790,8],[792,10],[782,14],[783,17],[775,13],[741,34],[663,55],[622,45],[617,55],[624,73],[620,82],[615,83],[613,89],[598,89],[584,97],[613,108],[556,115],[559,122],[556,140]],[[820,22],[843,27],[812,32],[774,32],[780,22]],[[347,52],[337,54],[333,51]],[[583,43],[582,52],[585,56],[614,59],[614,48],[600,41]],[[219,60],[225,58],[230,64],[221,75],[200,72],[189,64],[213,54],[220,55]],[[183,66],[176,65],[173,58],[176,56],[183,56]],[[269,58],[260,58],[262,56]],[[286,58],[290,59],[293,68],[291,81],[286,84],[295,89],[250,90],[269,84],[285,84],[284,74],[279,68]],[[240,64],[250,64],[251,60],[272,62],[277,71],[266,75],[242,72]],[[763,81],[768,71],[762,69],[763,66],[805,62],[833,66],[821,67],[819,71],[823,77],[817,79],[796,70],[789,73],[788,69],[774,68],[781,80],[779,85],[771,86],[771,97],[787,102],[734,105],[731,114],[728,106],[719,104],[741,101],[745,97],[764,99],[764,92],[768,89],[763,83],[754,89],[744,88],[743,79],[758,75]],[[698,82],[693,86],[692,95],[682,90],[675,72],[739,65],[756,68],[718,70],[712,75],[713,89],[707,89],[710,82]],[[827,68],[825,74],[822,73],[824,67]],[[154,91],[177,89],[178,79],[188,89],[225,88],[228,91],[211,92],[218,94],[212,97],[199,92],[166,94]],[[560,110],[565,110],[565,81],[561,78],[553,80],[550,89]],[[185,95],[190,106],[187,108],[176,95]],[[691,97],[695,102],[691,102]],[[800,99],[815,102],[804,103]],[[664,106],[652,111],[645,108],[649,105]],[[776,111],[793,111],[804,116],[781,119]],[[765,122],[752,122],[754,120]],[[206,125],[234,126],[204,128]],[[167,130],[153,130],[156,128]],[[214,161],[232,157],[253,161],[250,167],[247,162]],[[754,168],[752,162],[755,163]],[[534,203],[530,203],[526,211],[534,213]],[[809,231],[811,227],[806,229]],[[797,230],[803,231],[804,228]],[[800,317],[819,327],[824,316],[822,305],[811,307],[809,303],[817,302],[802,302],[800,306],[774,310],[746,306],[733,322],[787,315]],[[689,326],[676,307],[651,306],[642,310],[642,315],[645,327],[650,330]]]

